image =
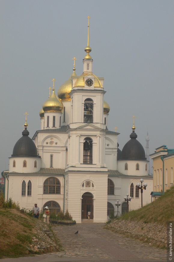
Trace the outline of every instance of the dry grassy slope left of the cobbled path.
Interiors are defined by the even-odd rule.
[[[32,243],[32,228],[36,223],[32,217],[15,209],[0,209],[0,258],[26,255],[26,246]]]

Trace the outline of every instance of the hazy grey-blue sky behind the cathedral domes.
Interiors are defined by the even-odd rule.
[[[54,78],[55,93],[72,74],[83,73],[90,18],[93,73],[104,77],[110,105],[108,129],[117,126],[119,148],[130,139],[149,151],[174,148],[174,1],[0,1],[0,171],[22,136],[26,111],[30,137]],[[151,163],[152,165],[152,163]]]

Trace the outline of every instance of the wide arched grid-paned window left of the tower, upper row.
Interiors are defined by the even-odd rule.
[[[44,194],[60,194],[60,181],[49,177],[44,181]]]

